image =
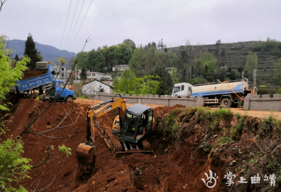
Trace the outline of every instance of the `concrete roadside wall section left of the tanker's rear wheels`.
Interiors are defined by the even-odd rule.
[[[95,95],[94,100],[107,101],[114,96],[112,93],[99,92]],[[200,107],[203,106],[203,99],[187,99],[187,98],[171,98],[171,95],[138,95],[121,94],[126,99],[126,103],[130,104],[151,104],[151,105],[165,105],[172,107],[174,105],[184,105],[186,107]]]

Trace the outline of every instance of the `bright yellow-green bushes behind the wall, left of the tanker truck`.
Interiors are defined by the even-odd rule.
[[[114,79],[114,92],[130,95],[156,94],[160,82],[154,79],[159,79],[159,76],[145,75],[142,78],[137,78],[133,71],[125,70],[121,79]]]

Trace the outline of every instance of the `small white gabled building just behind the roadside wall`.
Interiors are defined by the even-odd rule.
[[[82,86],[82,92],[87,95],[93,95],[97,94],[101,89],[103,89],[103,92],[106,93],[112,93],[113,92],[113,86],[109,85],[107,83],[103,83],[99,80],[93,80],[89,83],[86,83]]]

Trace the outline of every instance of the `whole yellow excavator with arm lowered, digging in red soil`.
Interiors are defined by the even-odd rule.
[[[102,129],[96,118],[118,109],[119,115],[113,120],[111,129]],[[153,110],[145,105],[135,104],[126,108],[126,100],[115,94],[108,101],[89,106],[86,114],[86,143],[79,144],[77,159],[79,166],[94,167],[95,165],[95,129],[100,127],[104,141],[118,155],[130,153],[151,153],[153,150],[145,136],[154,129]]]

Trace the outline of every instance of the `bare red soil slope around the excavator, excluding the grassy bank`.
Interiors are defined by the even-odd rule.
[[[89,100],[88,100],[89,101]],[[32,116],[32,112],[39,105],[36,115],[39,115],[48,105],[32,99],[20,99],[16,112],[7,121],[11,131],[9,135],[17,136],[23,131]],[[219,161],[210,165],[208,156],[194,146],[180,144],[174,146],[165,142],[165,137],[158,135],[157,129],[148,137],[154,154],[132,154],[117,157],[107,147],[97,131],[95,137],[96,164],[95,172],[87,181],[78,181],[76,177],[77,160],[76,148],[79,143],[86,142],[86,110],[89,103],[69,105],[54,103],[46,113],[30,127],[22,136],[24,142],[24,157],[31,158],[31,165],[41,164],[46,159],[50,146],[54,146],[50,157],[59,153],[58,146],[65,145],[72,148],[72,155],[66,157],[59,154],[50,159],[47,164],[29,171],[32,179],[26,179],[21,184],[27,190],[42,191],[223,191],[220,183],[212,189],[205,187],[201,178],[211,169],[221,176]],[[163,116],[174,107],[158,107],[154,109],[155,117]],[[67,115],[68,114],[68,115]],[[112,126],[112,111],[98,119],[101,126]],[[63,121],[62,121],[63,120]],[[56,128],[57,127],[57,128]],[[55,129],[56,128],[56,129]],[[53,131],[46,132],[50,129]],[[154,135],[155,134],[155,135]],[[65,137],[54,139],[52,137]],[[162,143],[162,144],[161,144]],[[161,145],[160,145],[161,144]]]

